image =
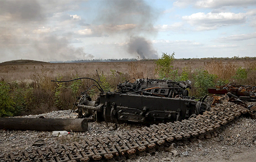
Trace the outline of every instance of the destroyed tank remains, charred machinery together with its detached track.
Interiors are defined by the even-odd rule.
[[[97,86],[101,91],[96,101],[92,101],[86,95],[86,92],[92,86]],[[146,153],[153,154],[157,153],[157,150],[168,149],[176,142],[182,143],[183,140],[190,139],[189,141],[193,141],[195,137],[202,139],[210,136],[210,132],[213,132],[222,125],[226,125],[235,118],[238,118],[241,114],[247,114],[249,112],[245,104],[236,104],[229,102],[230,100],[227,101],[226,99],[228,98],[225,97],[226,95],[219,100],[223,103],[212,105],[209,110],[205,111],[205,109],[208,109],[208,106],[203,102],[205,97],[199,99],[199,101],[194,100],[195,98],[193,97],[187,97],[188,94],[184,90],[189,88],[189,85],[185,82],[139,79],[135,83],[125,82],[119,84],[118,91],[114,92],[104,92],[100,84],[94,84],[92,86],[80,94],[82,97],[77,102],[77,106],[80,110],[85,109],[89,111],[88,114],[95,114],[94,116],[97,116],[97,119],[111,122],[131,121],[142,123],[141,120],[138,122],[138,120],[128,117],[134,115],[133,117],[137,118],[144,117],[145,121],[150,123],[153,123],[149,121],[150,119],[153,119],[153,121],[178,121],[174,123],[159,123],[158,125],[152,124],[148,127],[129,129],[124,132],[120,131],[109,136],[98,136],[97,134],[97,136],[92,137],[86,135],[83,141],[69,142],[57,147],[51,146],[44,149],[38,148],[36,150],[25,150],[10,154],[5,153],[3,155],[0,153],[0,161],[75,162],[98,160],[123,161],[126,158],[134,159],[137,155],[143,156]],[[158,90],[155,91],[155,89]],[[161,92],[163,89],[166,91]],[[169,94],[170,92],[171,94]],[[153,101],[149,101],[147,98]],[[161,107],[165,107],[164,110]],[[187,111],[184,111],[185,108]],[[120,111],[119,115],[118,109]],[[126,112],[126,110],[129,111]],[[154,112],[155,116],[146,117],[145,114],[148,112]],[[203,114],[194,115],[202,112]],[[169,113],[171,114],[170,117],[164,115],[164,118],[159,118],[156,115]],[[185,118],[189,118],[190,114],[190,117],[195,118],[179,121],[183,118],[184,113]],[[131,120],[122,120],[123,117],[120,119],[120,114],[123,116],[126,115]],[[81,115],[83,116],[84,114]]]

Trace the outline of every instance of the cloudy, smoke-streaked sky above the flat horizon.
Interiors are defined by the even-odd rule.
[[[0,0],[0,62],[256,57],[255,0]]]

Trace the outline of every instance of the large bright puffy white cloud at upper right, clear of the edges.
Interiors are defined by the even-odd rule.
[[[182,16],[190,25],[198,26],[196,30],[213,30],[232,24],[243,24],[246,21],[245,13],[203,13],[198,12],[189,16]]]

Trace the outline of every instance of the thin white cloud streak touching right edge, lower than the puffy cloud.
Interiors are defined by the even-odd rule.
[[[230,35],[228,37],[221,37],[217,39],[217,41],[241,41],[247,39],[256,38],[256,32],[248,33],[248,34],[238,34],[238,35]]]

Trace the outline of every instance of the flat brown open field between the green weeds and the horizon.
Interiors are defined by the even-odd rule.
[[[256,60],[174,60],[173,66],[174,70],[178,70],[179,73],[182,72],[183,67],[189,67],[191,72],[196,69],[204,68],[205,70],[210,71],[211,74],[220,74],[222,73],[221,70],[223,70],[220,68],[225,68],[225,66],[227,66],[227,68],[233,66],[232,71],[236,71],[236,68],[238,67],[255,67]],[[129,75],[131,78],[158,77],[155,72],[155,61],[96,63],[47,63],[40,61],[15,61],[0,63],[0,79],[9,82],[32,82],[34,76],[41,73],[48,73],[51,77],[54,78],[58,76],[86,77],[95,75],[95,70],[103,72],[106,75],[111,75],[111,70],[115,70]]]

